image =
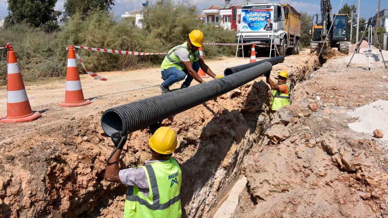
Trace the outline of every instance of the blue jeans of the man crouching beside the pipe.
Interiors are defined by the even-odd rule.
[[[193,62],[193,69],[198,73],[199,63],[197,61]],[[162,84],[165,87],[170,87],[174,83],[184,80],[186,75],[187,75],[187,78],[183,83],[185,87],[189,87],[191,81],[193,81],[192,76],[190,76],[190,74],[187,72],[186,69],[180,70],[180,69],[177,69],[177,67],[170,67],[168,69],[163,70],[161,73],[162,73],[162,78],[164,80]]]

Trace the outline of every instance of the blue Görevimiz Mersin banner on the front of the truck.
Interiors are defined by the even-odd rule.
[[[267,25],[268,18],[270,18],[272,22],[272,12],[273,9],[244,10],[243,13],[245,14],[242,17],[242,22],[246,23],[251,31],[263,30]],[[242,26],[242,29],[249,30],[248,28],[246,28],[246,25]]]

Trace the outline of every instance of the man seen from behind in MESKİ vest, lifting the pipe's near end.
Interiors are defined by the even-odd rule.
[[[119,146],[121,132],[112,134],[115,147]],[[123,143],[125,144],[125,143]],[[144,166],[120,170],[118,147],[106,166],[104,179],[128,186],[123,218],[180,218],[180,186],[182,168],[171,157],[177,147],[177,134],[170,127],[160,127],[149,139],[152,158]]]

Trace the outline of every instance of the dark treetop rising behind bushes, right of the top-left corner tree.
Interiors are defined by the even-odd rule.
[[[76,12],[80,12],[83,17],[88,15],[92,10],[102,10],[108,12],[112,9],[114,0],[67,0],[64,3],[65,14],[68,18],[73,16]]]

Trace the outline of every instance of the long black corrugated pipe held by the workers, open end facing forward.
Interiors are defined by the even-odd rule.
[[[131,133],[147,128],[160,120],[230,92],[271,70],[272,64],[264,62],[221,79],[107,109],[102,114],[102,129],[111,136],[116,131]]]

